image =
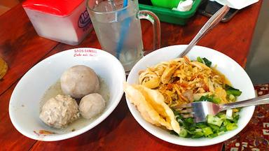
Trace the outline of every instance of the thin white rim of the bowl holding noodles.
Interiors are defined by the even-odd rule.
[[[143,57],[142,59],[139,60],[139,62],[142,62],[144,59],[149,59],[150,57],[152,57],[153,55],[156,55],[158,53],[164,53],[164,52],[167,52],[167,49],[170,49],[172,50],[171,48],[174,48],[173,50],[174,51],[179,51],[182,52],[182,50],[179,50],[179,48],[186,48],[187,45],[170,45],[170,46],[167,46],[167,47],[164,47],[164,48],[160,48],[158,50],[155,50],[151,53],[149,53],[149,55],[146,55],[145,57]],[[177,48],[177,50],[175,50],[175,48]],[[202,49],[206,49],[206,50],[209,50],[209,51],[212,51],[218,55],[223,55],[223,57],[227,57],[228,59],[231,59],[230,57],[228,57],[227,55],[217,51],[217,50],[214,50],[212,48],[207,48],[207,47],[203,47],[203,46],[200,46],[200,45],[195,45],[194,48],[202,48]],[[237,62],[235,62],[235,60],[231,59],[231,61],[233,61],[233,63],[235,63],[237,66],[240,66],[239,64],[237,64]],[[135,69],[139,66],[139,62],[137,62],[137,64],[135,64],[135,66],[132,68],[132,70],[130,71],[130,74],[129,76],[127,77],[127,83],[130,83],[130,75],[133,75],[135,74]],[[242,68],[242,66],[240,66],[240,68]],[[243,69],[244,70],[244,69]],[[245,71],[244,71],[245,74],[247,74]],[[247,77],[249,78],[249,76],[247,75]],[[251,82],[251,79],[249,78],[248,79],[250,82]],[[252,84],[252,82],[251,82]],[[253,84],[252,84],[253,86]],[[255,97],[255,90],[254,90],[254,86],[253,86],[253,89],[251,89],[251,91],[253,92],[253,94],[251,94],[253,97]],[[126,96],[125,96],[126,98]],[[244,123],[244,125],[242,125],[242,127],[237,127],[237,129],[233,130],[233,131],[228,131],[228,132],[233,132],[234,134],[230,136],[226,136],[226,138],[222,138],[222,139],[214,139],[214,138],[201,138],[201,139],[205,139],[207,142],[201,142],[201,141],[198,141],[198,139],[193,139],[193,138],[181,138],[179,136],[177,136],[177,140],[173,139],[172,138],[172,134],[169,134],[169,132],[167,131],[167,134],[169,135],[166,135],[165,136],[163,134],[161,134],[160,132],[158,131],[155,131],[154,129],[151,129],[151,126],[153,127],[156,127],[155,125],[152,125],[151,126],[148,126],[150,123],[149,122],[146,122],[143,117],[141,116],[141,114],[139,113],[139,111],[137,110],[137,108],[135,108],[135,106],[130,103],[130,101],[126,98],[126,102],[127,102],[127,106],[130,110],[130,112],[132,113],[132,116],[135,117],[135,120],[144,128],[146,129],[146,131],[148,131],[150,134],[152,134],[153,136],[156,136],[157,138],[160,138],[161,140],[163,141],[167,141],[169,143],[173,143],[173,144],[176,144],[176,145],[184,145],[184,146],[191,146],[191,147],[199,147],[199,146],[207,146],[207,145],[214,145],[216,143],[221,143],[223,141],[226,141],[228,140],[229,138],[232,138],[233,136],[237,135],[240,131],[242,131],[242,129],[244,129],[244,127],[247,126],[247,124],[249,123],[249,120],[251,120],[251,117],[254,113],[254,110],[255,110],[255,106],[248,106],[248,107],[244,107],[246,108],[246,110],[248,110],[248,117],[247,117],[247,122]],[[138,112],[138,114],[137,114]],[[236,132],[234,132],[236,131]],[[224,136],[218,136],[218,137],[224,137]],[[191,141],[189,141],[189,139],[191,139]]]

